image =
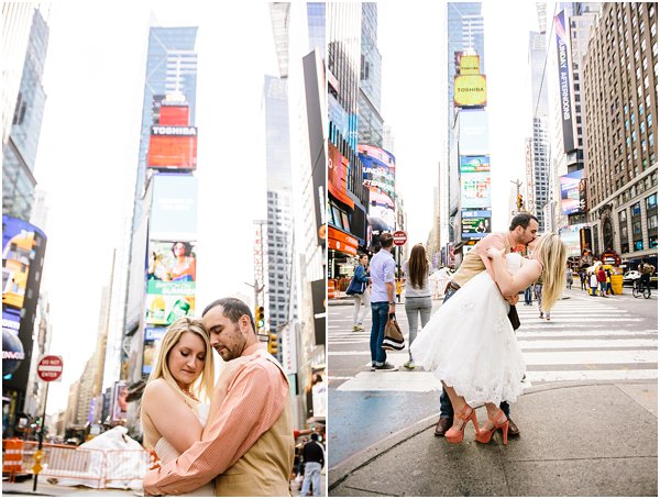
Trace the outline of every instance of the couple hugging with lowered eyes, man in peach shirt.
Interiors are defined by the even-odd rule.
[[[213,382],[215,348],[224,361]],[[205,403],[210,400],[210,403]],[[147,496],[290,496],[289,386],[250,308],[223,298],[165,333],[142,397]]]

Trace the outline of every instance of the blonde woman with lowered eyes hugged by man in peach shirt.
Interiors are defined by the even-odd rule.
[[[144,446],[162,463],[201,440],[213,389],[213,356],[200,320],[180,318],[168,329],[142,396]],[[183,496],[215,496],[213,483]]]

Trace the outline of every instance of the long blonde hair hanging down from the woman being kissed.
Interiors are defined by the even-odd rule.
[[[541,310],[549,312],[563,292],[566,267],[566,246],[554,232],[543,234],[534,250],[534,256],[541,263],[543,295]]]

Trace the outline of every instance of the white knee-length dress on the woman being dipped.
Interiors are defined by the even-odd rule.
[[[509,273],[522,257],[506,255]],[[453,387],[470,406],[522,393],[525,359],[508,320],[509,304],[486,270],[474,276],[429,320],[410,345],[413,358]]]

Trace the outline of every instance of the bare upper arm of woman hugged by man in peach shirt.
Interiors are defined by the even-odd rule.
[[[199,419],[164,379],[156,379],[146,385],[142,407],[160,435],[178,452],[187,451],[201,439]]]

